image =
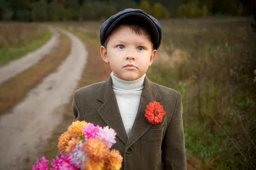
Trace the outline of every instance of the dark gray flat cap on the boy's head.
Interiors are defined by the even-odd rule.
[[[125,9],[108,18],[108,20],[106,20],[99,29],[101,45],[104,45],[106,38],[115,26],[129,23],[138,24],[147,29],[152,43],[154,44],[154,49],[159,48],[163,38],[162,26],[157,19],[140,9]]]

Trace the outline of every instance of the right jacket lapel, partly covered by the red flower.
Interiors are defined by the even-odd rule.
[[[145,109],[150,102],[158,102],[160,99],[162,99],[162,97],[155,85],[149,81],[147,77],[145,77],[144,88],[140,98],[137,116],[135,118],[125,149],[131,147],[131,145],[134,144],[134,142],[136,142],[142,135],[144,135],[145,132],[148,131],[148,129],[153,125],[146,119]]]

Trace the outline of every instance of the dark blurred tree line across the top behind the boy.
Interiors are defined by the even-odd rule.
[[[105,20],[126,8],[137,8],[157,19],[244,16],[253,13],[251,0],[0,0],[0,20]]]

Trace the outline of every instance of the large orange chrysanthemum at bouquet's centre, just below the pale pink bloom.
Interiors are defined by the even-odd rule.
[[[89,138],[84,142],[82,150],[94,161],[102,161],[107,158],[109,154],[108,146],[104,141],[100,141],[98,138]]]

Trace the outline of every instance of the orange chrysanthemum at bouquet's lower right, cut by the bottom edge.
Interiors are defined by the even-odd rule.
[[[105,160],[105,170],[120,170],[122,167],[122,156],[118,150],[111,150],[108,154],[108,158]]]

